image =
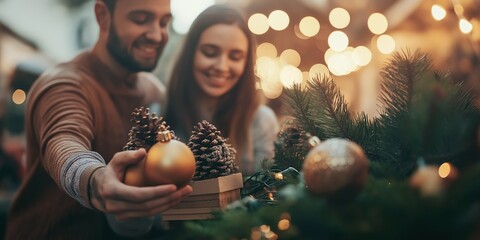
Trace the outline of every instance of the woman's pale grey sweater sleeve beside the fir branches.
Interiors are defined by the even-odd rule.
[[[262,160],[271,159],[274,156],[274,142],[280,126],[273,110],[261,105],[255,115],[252,128],[254,168],[258,171]]]

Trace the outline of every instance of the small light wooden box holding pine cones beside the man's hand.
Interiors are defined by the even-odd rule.
[[[241,173],[194,181],[193,192],[177,206],[162,213],[164,221],[197,220],[212,218],[212,211],[223,209],[239,200],[243,187]]]

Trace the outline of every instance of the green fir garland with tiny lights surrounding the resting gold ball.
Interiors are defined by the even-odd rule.
[[[432,70],[427,55],[404,51],[383,68],[378,117],[351,114],[329,76],[287,91],[294,121],[276,143],[276,164],[246,182],[245,196],[210,221],[186,222],[176,239],[478,239],[480,238],[479,110],[474,94]],[[349,139],[369,159],[369,179],[351,201],[314,196],[282,171],[300,169],[308,139]],[[421,161],[420,161],[421,160]],[[444,191],[422,195],[409,185],[417,163],[450,162],[459,176]],[[283,176],[283,175],[282,175]],[[438,176],[437,176],[438,177]],[[254,180],[255,180],[254,179]],[[277,182],[284,184],[275,184]],[[275,193],[259,201],[259,187]],[[249,191],[257,189],[256,191]],[[167,235],[168,235],[167,234]]]

